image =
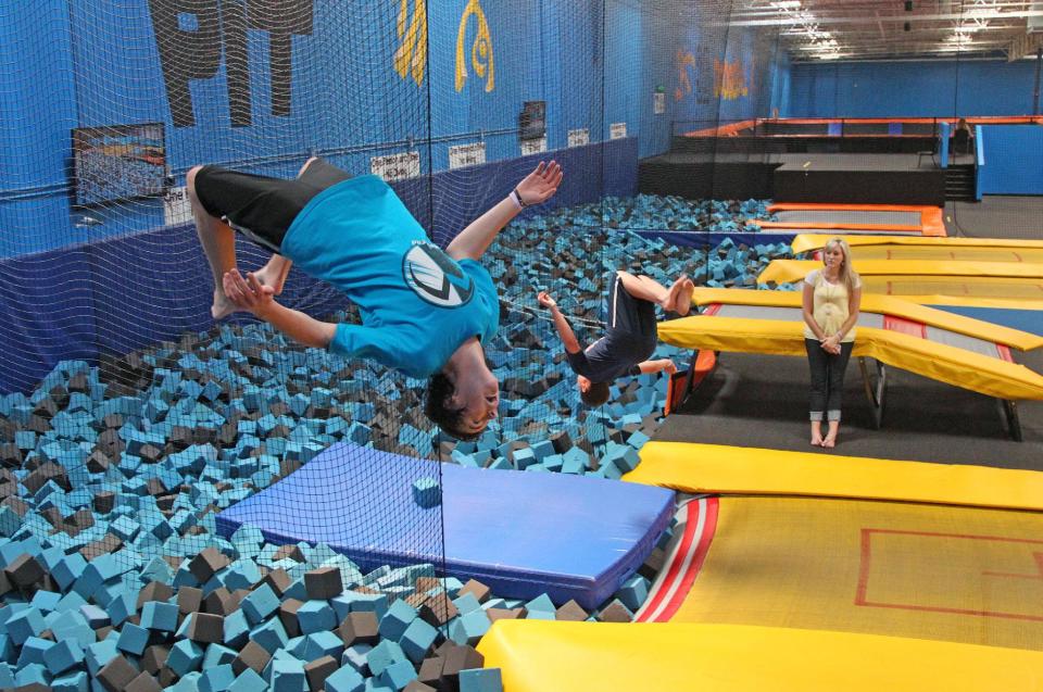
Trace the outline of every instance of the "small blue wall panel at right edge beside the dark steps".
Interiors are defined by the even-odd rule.
[[[1043,194],[1043,127],[983,125],[982,194]]]

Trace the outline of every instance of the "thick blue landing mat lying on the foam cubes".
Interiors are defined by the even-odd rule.
[[[247,524],[273,543],[324,542],[364,570],[442,564],[441,537],[429,530],[439,511],[412,496],[413,480],[432,470],[427,460],[336,444],[223,511],[217,531],[229,537]],[[644,562],[674,512],[674,492],[663,488],[454,464],[441,471],[447,574],[512,599],[546,593],[596,607]],[[366,498],[367,516],[394,516],[393,525],[331,521],[329,507],[348,489]]]

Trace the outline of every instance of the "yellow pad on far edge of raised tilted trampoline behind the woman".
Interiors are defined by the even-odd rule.
[[[766,291],[743,288],[696,288],[692,302],[696,305],[722,303],[725,305],[765,305],[770,307],[800,307],[802,295],[797,291]],[[892,295],[866,293],[862,297],[862,312],[892,315],[918,322],[940,329],[947,329],[968,337],[993,343],[1002,343],[1021,351],[1031,351],[1043,345],[1043,337],[1018,329],[1010,329],[980,319],[972,319],[934,310],[919,303]]]

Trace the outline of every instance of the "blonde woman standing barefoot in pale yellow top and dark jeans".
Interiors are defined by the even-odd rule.
[[[862,280],[851,268],[851,248],[833,238],[822,249],[822,268],[804,279],[804,347],[812,370],[812,444],[832,449],[840,430],[844,370],[855,342]],[[822,437],[822,419],[828,423]]]

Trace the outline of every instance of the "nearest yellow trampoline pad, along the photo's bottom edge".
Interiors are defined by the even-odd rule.
[[[499,620],[504,692],[1039,690],[1043,653],[749,625]]]

